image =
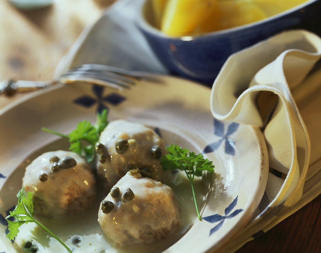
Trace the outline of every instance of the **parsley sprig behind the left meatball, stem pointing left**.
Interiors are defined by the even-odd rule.
[[[41,128],[41,130],[69,139],[69,150],[81,156],[84,156],[88,163],[91,163],[95,157],[94,149],[99,139],[100,133],[105,129],[107,125],[107,110],[104,109],[101,113],[97,114],[97,121],[95,125],[92,125],[91,122],[87,120],[81,121],[77,124],[76,128],[68,135],[53,131],[46,127]],[[85,144],[83,144],[83,142]]]

